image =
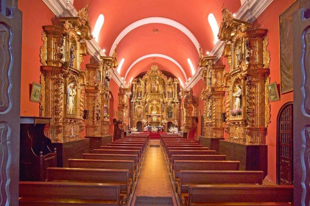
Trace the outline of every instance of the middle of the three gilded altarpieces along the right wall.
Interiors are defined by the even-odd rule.
[[[204,100],[204,134],[206,137],[223,137],[224,122],[222,113],[225,111],[225,90],[223,76],[225,65],[215,65],[216,57],[201,57],[199,67],[204,68],[202,78],[205,88],[200,98]]]

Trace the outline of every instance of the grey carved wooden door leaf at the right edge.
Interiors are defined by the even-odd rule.
[[[294,205],[310,203],[310,18],[293,17]]]

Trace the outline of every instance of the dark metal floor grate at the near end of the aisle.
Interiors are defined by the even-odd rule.
[[[137,196],[134,206],[173,206],[172,197]]]

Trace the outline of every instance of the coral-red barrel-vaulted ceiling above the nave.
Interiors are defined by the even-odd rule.
[[[169,71],[170,67],[170,70],[174,70],[172,73],[177,73],[175,76],[180,77],[185,83],[185,76],[193,76],[187,58],[192,61],[194,70],[197,69],[197,42],[201,44],[204,52],[211,51],[214,47],[214,35],[208,23],[208,15],[213,13],[220,25],[223,3],[232,13],[241,6],[240,0],[89,0],[89,20],[93,29],[98,16],[104,15],[98,44],[106,50],[106,55],[109,55],[113,43],[117,44],[118,61],[125,59],[120,70],[121,77],[125,76],[128,68],[137,59],[157,53],[171,57],[181,65],[185,75],[171,61],[155,57],[158,59],[156,62],[165,70]],[[74,0],[73,5],[80,10],[85,6],[85,0]],[[159,20],[152,17],[159,17]],[[160,22],[160,19],[167,19],[168,23],[154,23]],[[142,21],[143,23],[140,23]],[[169,25],[169,21],[178,23],[179,27]],[[132,26],[138,24],[141,26]],[[158,32],[154,33],[154,29],[158,29]],[[150,57],[136,63],[128,72],[126,82],[149,68],[151,61],[153,62]]]

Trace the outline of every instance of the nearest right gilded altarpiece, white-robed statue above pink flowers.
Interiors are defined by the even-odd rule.
[[[270,55],[267,29],[252,26],[234,19],[223,8],[218,37],[225,41],[223,56],[230,66],[224,73],[226,132],[228,141],[264,145],[270,121],[267,91]]]

